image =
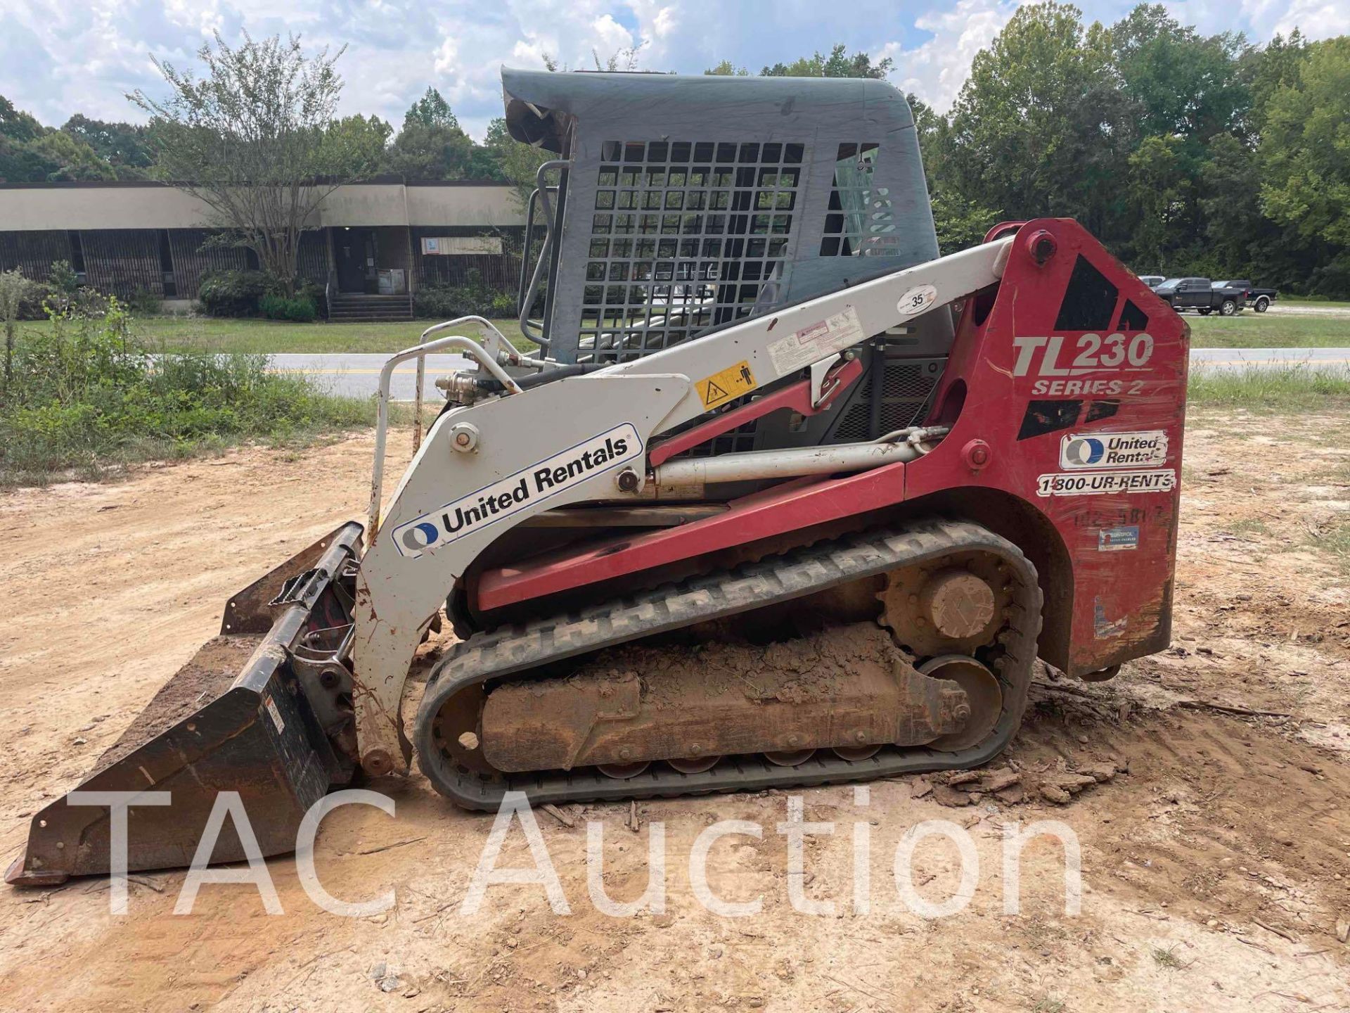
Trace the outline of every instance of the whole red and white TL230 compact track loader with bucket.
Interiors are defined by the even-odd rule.
[[[940,257],[880,81],[504,86],[556,153],[539,348],[459,320],[390,361],[367,524],[231,597],[80,785],[170,793],[120,814],[130,868],[188,864],[220,791],[293,851],[327,791],[414,759],[485,810],[971,767],[1037,656],[1100,679],[1168,644],[1188,332],[1080,226]],[[389,375],[447,350],[470,367],[381,513]],[[113,831],[63,797],[7,878],[107,873]],[[243,858],[227,820],[212,860]]]

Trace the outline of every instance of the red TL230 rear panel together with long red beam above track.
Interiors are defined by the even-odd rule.
[[[486,570],[475,606],[899,504],[922,512],[929,497],[934,511],[1002,528],[1037,561],[1048,660],[1088,673],[1158,651],[1170,633],[1187,362],[1183,320],[1077,223],[1027,223],[996,290],[967,300],[932,417],[952,432],[933,452],[779,486],[683,527]]]

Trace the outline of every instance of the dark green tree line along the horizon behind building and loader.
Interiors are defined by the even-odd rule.
[[[305,65],[294,39],[289,53],[277,39],[256,45],[277,46],[278,66]],[[250,46],[217,41],[217,55]],[[333,97],[336,55],[317,58]],[[597,55],[595,65],[633,69],[639,55]],[[188,78],[161,69],[182,99]],[[884,78],[898,69],[834,46],[759,73]],[[724,61],[706,73],[749,70]],[[189,101],[234,115],[225,81],[223,93],[188,92]],[[0,97],[0,180],[186,178],[193,162],[174,150],[192,131],[178,130],[171,103],[131,99],[148,124],[76,115],[47,128]],[[909,101],[944,251],[1000,220],[1065,216],[1141,274],[1350,296],[1350,36],[1308,42],[1296,30],[1257,46],[1235,32],[1202,35],[1160,4],[1087,24],[1076,7],[1042,3],[1018,9],[975,57],[950,111]],[[335,178],[394,173],[528,190],[545,157],[512,140],[500,118],[475,142],[435,88],[397,131],[378,116],[320,126],[316,151],[328,155],[315,163]]]

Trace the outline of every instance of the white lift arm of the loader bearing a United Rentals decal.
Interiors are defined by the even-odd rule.
[[[639,498],[653,435],[994,284],[1013,242],[441,415],[404,473],[356,578],[352,696],[366,771],[408,769],[400,702],[413,652],[428,617],[491,542],[541,511]],[[381,466],[377,459],[377,475]]]

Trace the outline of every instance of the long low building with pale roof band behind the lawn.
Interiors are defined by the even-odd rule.
[[[256,267],[251,250],[207,243],[212,211],[144,181],[0,184],[0,270],[46,281],[66,261],[86,285],[186,308],[212,270]],[[514,292],[524,212],[498,182],[375,178],[333,190],[304,235],[300,273],[335,319],[409,319],[412,296],[471,278]]]

